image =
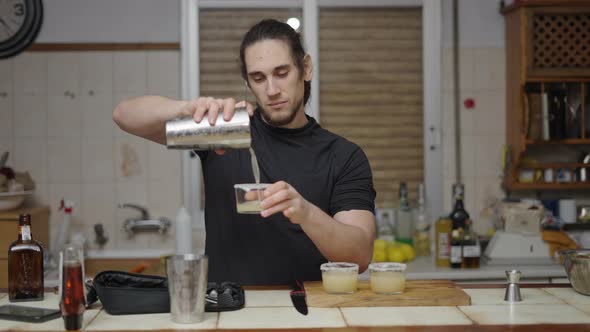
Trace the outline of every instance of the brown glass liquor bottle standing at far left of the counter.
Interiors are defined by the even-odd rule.
[[[18,219],[18,240],[8,248],[10,302],[43,300],[43,247],[33,240],[31,215]]]

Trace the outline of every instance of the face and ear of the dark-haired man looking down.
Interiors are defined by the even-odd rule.
[[[258,41],[246,48],[248,84],[262,109],[264,120],[277,127],[296,128],[307,119],[303,110],[304,79],[311,79],[311,69],[301,75],[289,45],[279,39]],[[311,66],[309,59],[306,66]]]

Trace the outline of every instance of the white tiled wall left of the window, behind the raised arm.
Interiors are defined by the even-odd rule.
[[[146,93],[180,95],[178,51],[36,52],[0,60],[0,152],[8,165],[29,171],[34,199],[51,207],[51,238],[62,217],[62,197],[75,203],[72,231],[96,248],[93,225],[102,223],[105,249],[172,249],[167,236],[122,231],[136,212],[174,220],[181,204],[180,154],[121,131],[112,110]],[[135,161],[132,172],[124,162]]]

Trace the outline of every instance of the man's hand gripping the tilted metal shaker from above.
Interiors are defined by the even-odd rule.
[[[254,107],[246,101],[236,103],[233,98],[213,98],[213,97],[199,97],[195,100],[190,100],[182,107],[183,116],[191,116],[196,123],[203,121],[207,117],[209,124],[214,126],[217,121],[219,112],[223,113],[223,119],[229,121],[233,118],[236,108],[245,107],[250,116],[254,115]]]

